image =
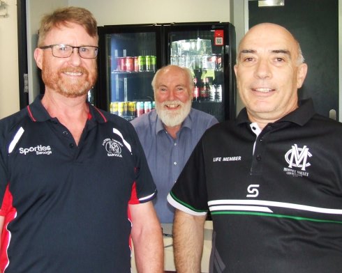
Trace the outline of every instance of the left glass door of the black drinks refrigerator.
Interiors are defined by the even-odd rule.
[[[154,106],[156,33],[105,34],[108,110],[132,120]]]

